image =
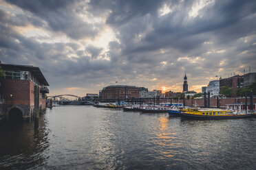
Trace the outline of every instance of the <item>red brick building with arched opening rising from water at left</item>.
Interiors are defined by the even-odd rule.
[[[45,108],[45,93],[49,93],[43,73],[36,66],[1,62],[0,66],[6,74],[0,84],[0,120],[31,120],[34,108]]]

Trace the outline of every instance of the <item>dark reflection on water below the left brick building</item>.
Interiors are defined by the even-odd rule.
[[[0,124],[0,169],[43,165],[46,158],[42,153],[49,147],[44,115],[39,123],[39,130],[34,130],[34,123]]]

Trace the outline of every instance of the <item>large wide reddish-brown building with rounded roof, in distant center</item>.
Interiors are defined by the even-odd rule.
[[[139,88],[136,86],[113,85],[104,87],[102,90],[103,99],[124,99],[139,98]]]

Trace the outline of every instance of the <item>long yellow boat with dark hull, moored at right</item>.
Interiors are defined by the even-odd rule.
[[[233,119],[233,118],[244,118],[251,117],[253,114],[248,112],[232,112],[231,110],[221,109],[198,109],[189,108],[185,111],[180,112],[181,117],[193,118],[193,119]]]

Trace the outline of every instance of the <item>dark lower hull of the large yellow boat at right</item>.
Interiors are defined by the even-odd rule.
[[[234,114],[232,116],[209,116],[209,115],[197,115],[197,114],[187,114],[185,112],[180,112],[180,116],[188,119],[239,119],[252,117],[252,114]]]

